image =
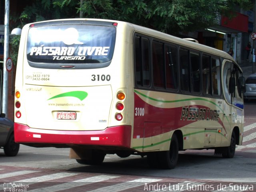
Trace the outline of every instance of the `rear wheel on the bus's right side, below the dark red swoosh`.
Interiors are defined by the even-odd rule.
[[[179,146],[176,134],[172,135],[170,150],[160,152],[160,166],[164,169],[174,169],[178,162]]]

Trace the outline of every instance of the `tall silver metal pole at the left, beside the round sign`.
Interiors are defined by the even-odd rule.
[[[4,76],[3,76],[3,107],[2,113],[8,116],[8,71],[6,69],[6,60],[9,56],[9,0],[5,0],[4,12]]]

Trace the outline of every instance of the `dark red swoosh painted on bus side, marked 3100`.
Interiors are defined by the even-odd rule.
[[[161,107],[160,105],[159,107],[152,106],[134,93],[134,107],[137,108],[137,110],[143,108],[144,114],[140,114],[137,111],[136,116],[136,109],[134,111],[133,138],[157,136],[159,134],[164,134],[198,121],[197,119],[188,120],[187,118],[181,117],[182,108],[184,106],[176,108],[163,108],[163,106]],[[201,105],[190,105],[186,107],[204,108],[206,110],[210,110],[210,108],[207,106]],[[220,118],[218,118],[216,122],[218,122],[224,128],[223,122]],[[225,128],[224,131],[226,132]]]

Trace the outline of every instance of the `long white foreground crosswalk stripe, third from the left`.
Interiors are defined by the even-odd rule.
[[[34,190],[29,190],[29,192],[62,191],[62,190],[67,190],[67,189],[71,189],[74,187],[84,186],[84,185],[88,185],[88,184],[91,184],[94,182],[102,182],[102,181],[105,181],[108,179],[114,179],[114,178],[118,178],[118,177],[119,176],[108,176],[108,175],[94,176],[94,177],[80,179],[80,180],[76,180],[76,181],[68,182],[68,183],[64,183],[64,184],[58,184],[58,185],[44,187],[44,188],[37,188]]]

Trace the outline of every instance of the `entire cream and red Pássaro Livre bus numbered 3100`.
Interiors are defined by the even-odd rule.
[[[242,70],[227,53],[127,22],[64,19],[22,29],[15,82],[15,141],[147,156],[174,168],[178,151],[242,144]]]

